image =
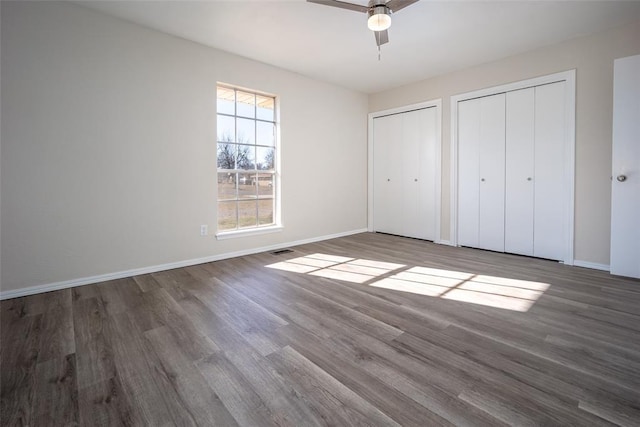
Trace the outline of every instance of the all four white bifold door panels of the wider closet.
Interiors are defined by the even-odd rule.
[[[565,85],[458,103],[459,245],[563,259]]]

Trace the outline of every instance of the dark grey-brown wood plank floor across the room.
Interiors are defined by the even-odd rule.
[[[640,281],[364,233],[2,301],[1,424],[640,425]]]

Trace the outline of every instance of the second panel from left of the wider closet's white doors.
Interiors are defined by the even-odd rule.
[[[505,94],[480,99],[478,247],[504,251]]]

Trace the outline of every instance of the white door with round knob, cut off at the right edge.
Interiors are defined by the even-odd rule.
[[[611,273],[640,278],[640,55],[614,64]]]

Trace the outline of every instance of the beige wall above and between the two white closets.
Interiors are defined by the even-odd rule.
[[[613,60],[640,53],[640,23],[574,39],[369,97],[375,112],[443,101],[442,239],[449,236],[451,95],[576,69],[575,259],[609,264]]]

